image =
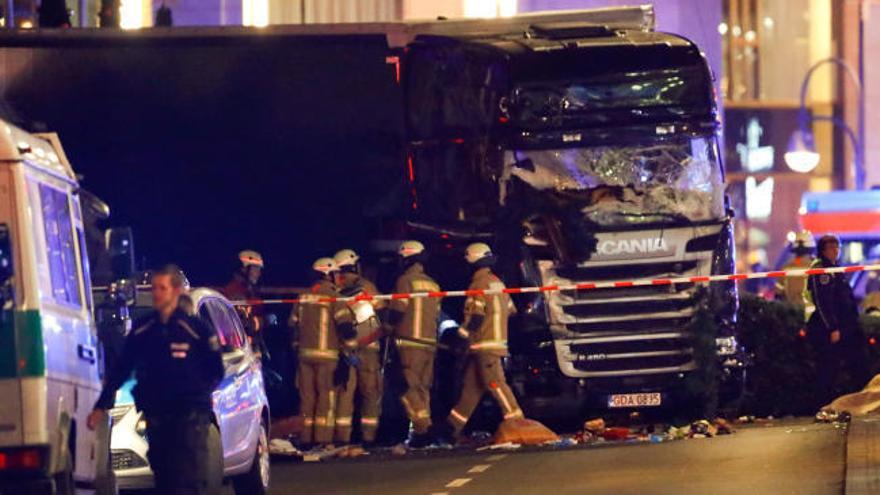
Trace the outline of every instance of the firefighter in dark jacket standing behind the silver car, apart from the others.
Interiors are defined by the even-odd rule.
[[[259,299],[259,283],[264,266],[263,257],[256,251],[246,249],[238,253],[238,260],[241,266],[232,274],[232,280],[223,288],[223,295],[232,301]],[[274,315],[267,315],[262,306],[236,306],[236,309],[245,324],[251,346],[258,357],[262,356],[266,349],[263,330],[267,321],[274,320]]]

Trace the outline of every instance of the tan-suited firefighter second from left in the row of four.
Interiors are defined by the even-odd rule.
[[[376,285],[361,273],[360,256],[351,249],[343,249],[333,257],[339,267],[337,285],[347,296],[377,295]],[[360,301],[354,304],[371,304],[373,310],[385,308],[385,301]],[[350,305],[353,306],[353,305]],[[369,309],[369,308],[368,308]],[[336,440],[349,443],[351,440],[352,416],[354,414],[355,391],[361,400],[361,436],[366,444],[376,441],[379,416],[382,407],[382,358],[379,341],[375,340],[358,350],[358,365],[349,370],[343,387],[339,391],[339,405],[336,411]]]

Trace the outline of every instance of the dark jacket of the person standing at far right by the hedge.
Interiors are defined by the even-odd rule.
[[[810,268],[834,268],[837,264],[817,258]],[[816,305],[810,329],[820,333],[840,330],[844,335],[858,330],[858,306],[852,288],[842,273],[812,275],[807,287]]]

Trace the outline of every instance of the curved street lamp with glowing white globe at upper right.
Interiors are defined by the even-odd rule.
[[[858,90],[859,114],[858,114],[858,135],[853,132],[852,128],[846,125],[843,120],[829,115],[810,115],[807,111],[807,88],[810,85],[810,78],[816,69],[825,64],[836,64],[844,70]],[[843,59],[832,57],[820,60],[813,64],[804,76],[801,83],[801,105],[798,110],[798,128],[791,134],[788,141],[788,151],[785,153],[785,163],[795,172],[808,173],[819,165],[819,153],[816,152],[816,141],[810,131],[810,124],[813,121],[831,122],[839,127],[849,138],[853,147],[853,158],[855,165],[855,186],[856,189],[864,189],[865,186],[865,92],[862,87],[862,81],[856,71],[847,64]]]

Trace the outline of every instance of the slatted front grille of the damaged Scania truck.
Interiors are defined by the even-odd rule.
[[[543,259],[538,261],[541,281],[568,285],[711,272],[711,252],[684,252],[692,232],[668,231],[667,235],[671,244],[679,246],[674,255],[653,260],[599,260],[578,266],[558,266]],[[688,327],[696,311],[696,289],[695,284],[686,283],[547,293],[560,369],[573,378],[635,377],[695,369]]]

